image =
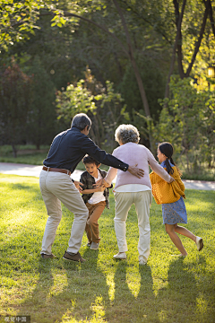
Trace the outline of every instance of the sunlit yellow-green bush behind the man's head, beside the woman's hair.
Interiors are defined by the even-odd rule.
[[[58,119],[64,118],[69,127],[76,113],[87,113],[92,119],[90,137],[99,146],[112,151],[114,148],[114,130],[118,123],[129,119],[126,106],[119,93],[114,91],[113,83],[106,87],[99,83],[87,67],[85,80],[69,84],[65,91],[56,94]]]

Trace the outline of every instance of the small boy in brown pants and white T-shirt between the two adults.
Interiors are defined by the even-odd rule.
[[[104,179],[107,175],[105,170],[99,170],[100,163],[94,158],[86,155],[82,162],[85,165],[86,171],[81,175],[82,182],[82,199],[89,209],[89,217],[87,219],[85,231],[87,232],[88,244],[90,249],[99,249],[99,217],[105,207],[109,208],[109,191],[108,188],[94,188],[93,184],[99,179]],[[111,185],[109,188],[113,188]]]

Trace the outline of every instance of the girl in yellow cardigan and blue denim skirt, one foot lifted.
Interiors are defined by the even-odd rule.
[[[169,143],[161,143],[158,146],[158,159],[161,166],[168,171],[175,181],[167,183],[161,179],[154,171],[150,173],[150,182],[152,187],[152,195],[157,204],[162,204],[163,223],[170,239],[176,248],[181,252],[179,256],[185,257],[187,252],[177,236],[177,233],[192,239],[197,246],[198,251],[203,248],[201,237],[195,236],[191,231],[185,229],[177,223],[187,223],[187,215],[185,209],[185,185],[181,180],[180,171],[176,168],[176,164],[172,159],[173,146]]]

